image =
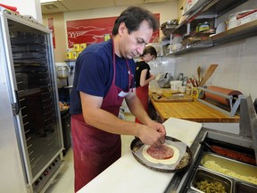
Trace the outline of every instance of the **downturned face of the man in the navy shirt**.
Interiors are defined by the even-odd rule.
[[[153,35],[153,29],[149,28],[147,21],[143,21],[139,29],[130,34],[125,23],[120,24],[120,27],[120,54],[128,59],[142,55],[145,45]]]

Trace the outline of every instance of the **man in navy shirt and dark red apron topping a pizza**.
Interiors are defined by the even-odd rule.
[[[112,38],[87,46],[76,61],[70,93],[75,191],[120,158],[120,135],[149,146],[165,142],[164,126],[150,119],[135,91],[133,57],[143,54],[155,29],[153,13],[131,6],[115,21]],[[143,124],[118,118],[124,98]]]

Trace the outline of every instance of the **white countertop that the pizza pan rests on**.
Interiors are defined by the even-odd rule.
[[[170,118],[163,122],[167,136],[178,138],[192,145],[202,123],[189,122],[181,119]],[[173,177],[173,173],[155,172],[137,162],[129,152],[120,157],[114,164],[91,180],[79,193],[158,193],[164,192]]]

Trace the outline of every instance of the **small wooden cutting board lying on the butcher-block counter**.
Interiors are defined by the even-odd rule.
[[[155,102],[192,102],[193,97],[192,96],[178,96],[178,95],[173,95],[173,96],[159,96],[157,94],[152,95],[153,100]]]

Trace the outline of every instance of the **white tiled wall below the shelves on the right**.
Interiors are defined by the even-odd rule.
[[[180,55],[176,58],[176,74],[195,75],[198,66],[206,71],[211,63],[219,64],[206,85],[237,89],[245,96],[257,97],[257,38],[247,38],[228,45]],[[204,73],[203,73],[204,74]]]

